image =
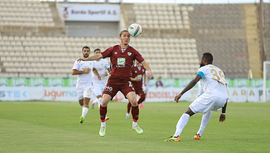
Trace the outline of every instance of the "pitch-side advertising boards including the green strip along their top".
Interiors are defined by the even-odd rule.
[[[172,102],[175,95],[189,84],[191,79],[162,79],[164,87],[156,88],[157,79],[151,79],[146,102]],[[262,101],[262,79],[227,79],[231,102]],[[270,81],[266,81],[266,99],[270,101]],[[0,78],[0,100],[50,100],[77,101],[76,78]],[[198,87],[185,93],[181,100],[193,101],[198,96]],[[95,95],[92,96],[95,99]],[[127,102],[122,93],[114,100]]]

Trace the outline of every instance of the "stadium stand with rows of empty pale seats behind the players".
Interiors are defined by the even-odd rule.
[[[0,1],[1,77],[72,77],[72,65],[81,56],[83,46],[90,46],[92,51],[104,50],[119,42],[117,36],[67,36],[62,31],[65,22],[59,18],[55,3],[17,2]],[[18,5],[24,7],[14,13],[13,7]],[[215,65],[224,69],[227,78],[246,78],[249,55],[243,7],[240,4],[123,4],[123,13],[126,25],[132,22],[142,25],[144,34],[132,38],[130,44],[142,53],[156,76],[193,78],[201,54],[210,51],[215,56]],[[18,25],[33,27],[38,32],[20,28],[15,31]],[[48,27],[52,31],[43,31]]]

